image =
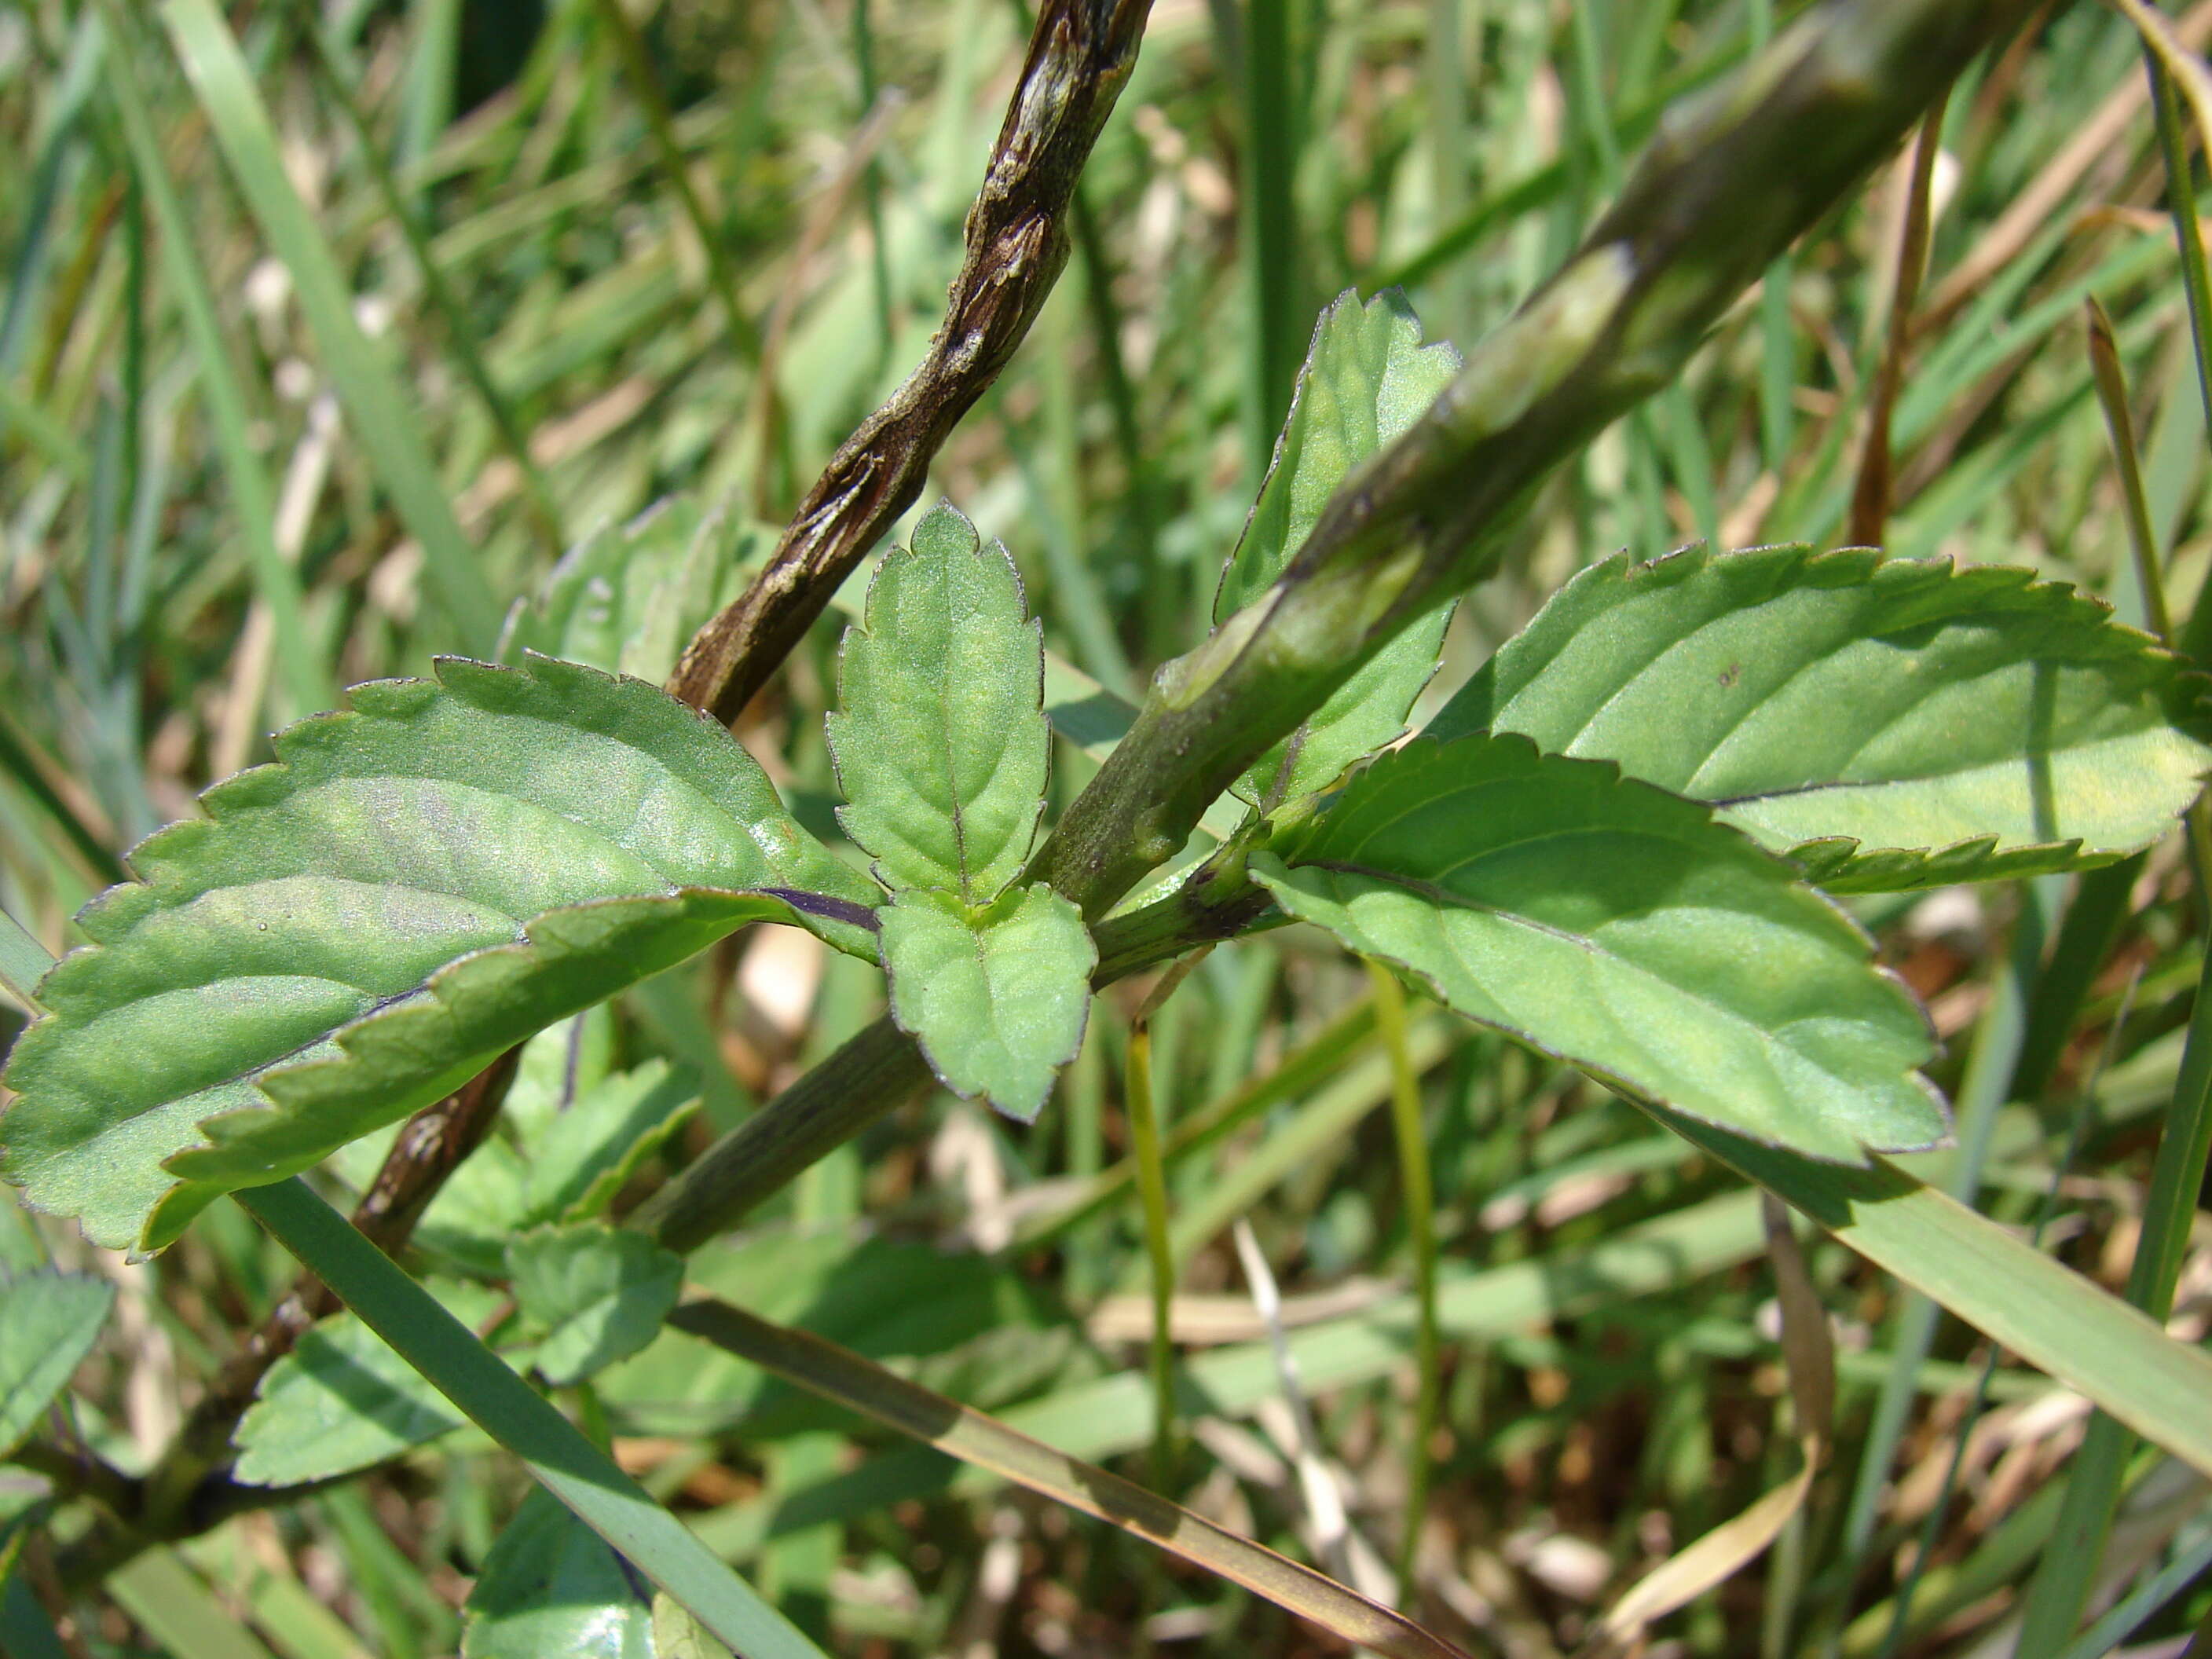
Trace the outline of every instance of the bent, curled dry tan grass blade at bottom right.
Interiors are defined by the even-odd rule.
[[[1783,1526],[1805,1504],[1820,1471],[1829,1427],[1836,1416],[1836,1345],[1827,1329],[1827,1307],[1805,1270],[1805,1254],[1790,1230],[1781,1199],[1763,1197],[1767,1254],[1774,1261],[1774,1296],[1783,1310],[1783,1367],[1790,1371],[1790,1402],[1796,1411],[1803,1467],[1734,1520],[1721,1522],[1670,1559],[1637,1579],[1599,1621],[1584,1648],[1586,1659],[1628,1652],[1644,1630],[1701,1597],[1723,1579],[1765,1555]]]

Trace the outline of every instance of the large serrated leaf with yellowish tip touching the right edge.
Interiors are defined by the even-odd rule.
[[[2112,863],[2197,796],[2201,684],[2006,566],[1845,549],[1613,557],[1429,726],[1712,801],[1836,891]]]

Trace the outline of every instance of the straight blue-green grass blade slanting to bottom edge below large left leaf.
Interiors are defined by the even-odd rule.
[[[330,1285],[453,1405],[575,1515],[748,1659],[823,1659],[675,1515],[303,1181],[239,1194],[270,1234]]]

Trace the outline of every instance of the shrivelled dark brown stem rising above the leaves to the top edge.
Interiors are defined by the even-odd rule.
[[[768,681],[838,582],[922,493],[929,462],[998,378],[1073,246],[1068,204],[1137,64],[1152,0],[1046,0],[967,217],[945,323],[907,380],[814,480],[768,566],[684,650],[668,690],[723,723]]]

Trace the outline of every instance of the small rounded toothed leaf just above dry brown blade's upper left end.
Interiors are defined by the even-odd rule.
[[[597,1223],[524,1232],[507,1245],[507,1267],[515,1307],[544,1332],[538,1374],[555,1385],[641,1349],[684,1290],[684,1256]]]

